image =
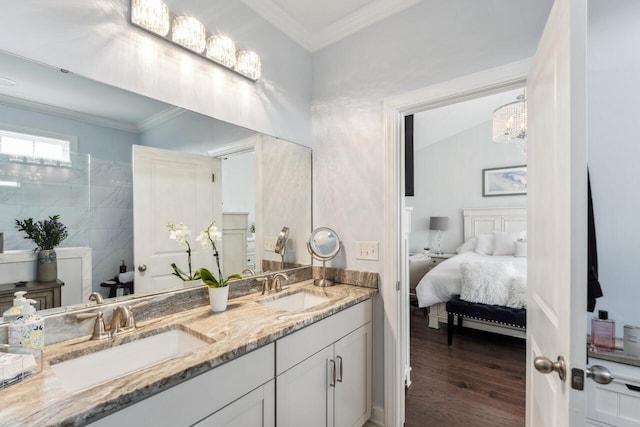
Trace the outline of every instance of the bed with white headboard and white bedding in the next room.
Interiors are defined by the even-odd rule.
[[[524,285],[521,286],[526,286],[526,256],[494,256],[477,253],[475,246],[478,242],[472,240],[474,237],[482,240],[486,236],[496,235],[494,233],[498,233],[500,236],[507,233],[512,236],[525,233],[527,228],[526,208],[467,208],[463,209],[463,219],[465,244],[462,245],[461,253],[436,265],[416,285],[418,305],[428,308],[429,327],[431,328],[439,329],[440,323],[447,323],[448,316],[445,304],[455,295],[461,293],[463,273],[460,267],[463,265],[467,269],[465,273],[468,273],[470,266],[507,264],[509,268],[513,267],[510,274],[518,277],[520,282],[524,282]],[[526,299],[526,290],[524,298]],[[525,336],[525,331],[522,328],[498,325],[479,319],[465,319],[465,326],[503,335],[521,338]]]

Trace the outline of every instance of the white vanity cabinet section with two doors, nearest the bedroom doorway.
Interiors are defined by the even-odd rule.
[[[276,342],[279,427],[361,426],[371,416],[371,300]]]

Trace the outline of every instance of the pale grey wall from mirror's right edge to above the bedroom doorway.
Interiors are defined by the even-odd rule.
[[[382,103],[533,56],[551,0],[425,1],[313,55],[313,224],[336,230],[334,266],[383,273],[355,242],[384,242]],[[523,17],[526,17],[523,19]],[[382,276],[382,275],[381,275]],[[394,286],[381,283],[380,286]],[[374,313],[374,405],[383,405],[382,304]]]

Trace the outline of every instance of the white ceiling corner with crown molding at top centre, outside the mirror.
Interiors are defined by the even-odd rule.
[[[422,0],[242,0],[314,52]]]

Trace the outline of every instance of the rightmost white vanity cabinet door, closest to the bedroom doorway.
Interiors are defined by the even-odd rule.
[[[335,427],[361,426],[371,417],[371,323],[335,343]]]

